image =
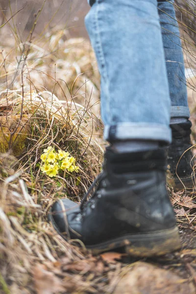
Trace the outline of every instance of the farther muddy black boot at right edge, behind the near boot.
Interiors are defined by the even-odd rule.
[[[193,187],[193,154],[190,121],[171,124],[172,144],[168,147],[167,183],[174,191]]]

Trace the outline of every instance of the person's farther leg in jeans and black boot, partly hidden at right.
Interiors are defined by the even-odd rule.
[[[169,81],[171,108],[172,144],[168,150],[168,184],[177,189],[193,186],[190,165],[192,160],[191,122],[187,101],[185,67],[178,23],[173,1],[158,0],[158,13],[162,27],[162,38]],[[188,150],[189,149],[189,150]],[[185,152],[185,150],[188,150]],[[181,160],[179,161],[181,155]],[[178,163],[179,161],[179,163]],[[176,165],[177,170],[176,170]],[[180,178],[180,179],[179,179]],[[183,184],[182,184],[183,183]],[[183,186],[184,185],[184,186]]]

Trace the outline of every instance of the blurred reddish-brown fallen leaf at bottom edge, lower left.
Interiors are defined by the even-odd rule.
[[[60,278],[52,271],[47,270],[45,265],[37,264],[34,267],[33,278],[37,294],[56,294],[60,291],[66,291]]]

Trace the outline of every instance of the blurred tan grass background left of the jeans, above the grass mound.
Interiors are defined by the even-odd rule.
[[[23,72],[25,86],[89,105],[99,122],[98,67],[84,25],[87,0],[0,0],[0,8],[0,25],[14,16],[0,29],[0,91],[20,89]]]

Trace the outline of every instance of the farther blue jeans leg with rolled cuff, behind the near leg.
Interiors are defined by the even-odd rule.
[[[190,116],[184,58],[173,3],[174,1],[157,0],[172,102],[171,121],[174,118],[189,119]],[[182,122],[184,122],[183,119]],[[176,122],[179,121],[176,120]]]

